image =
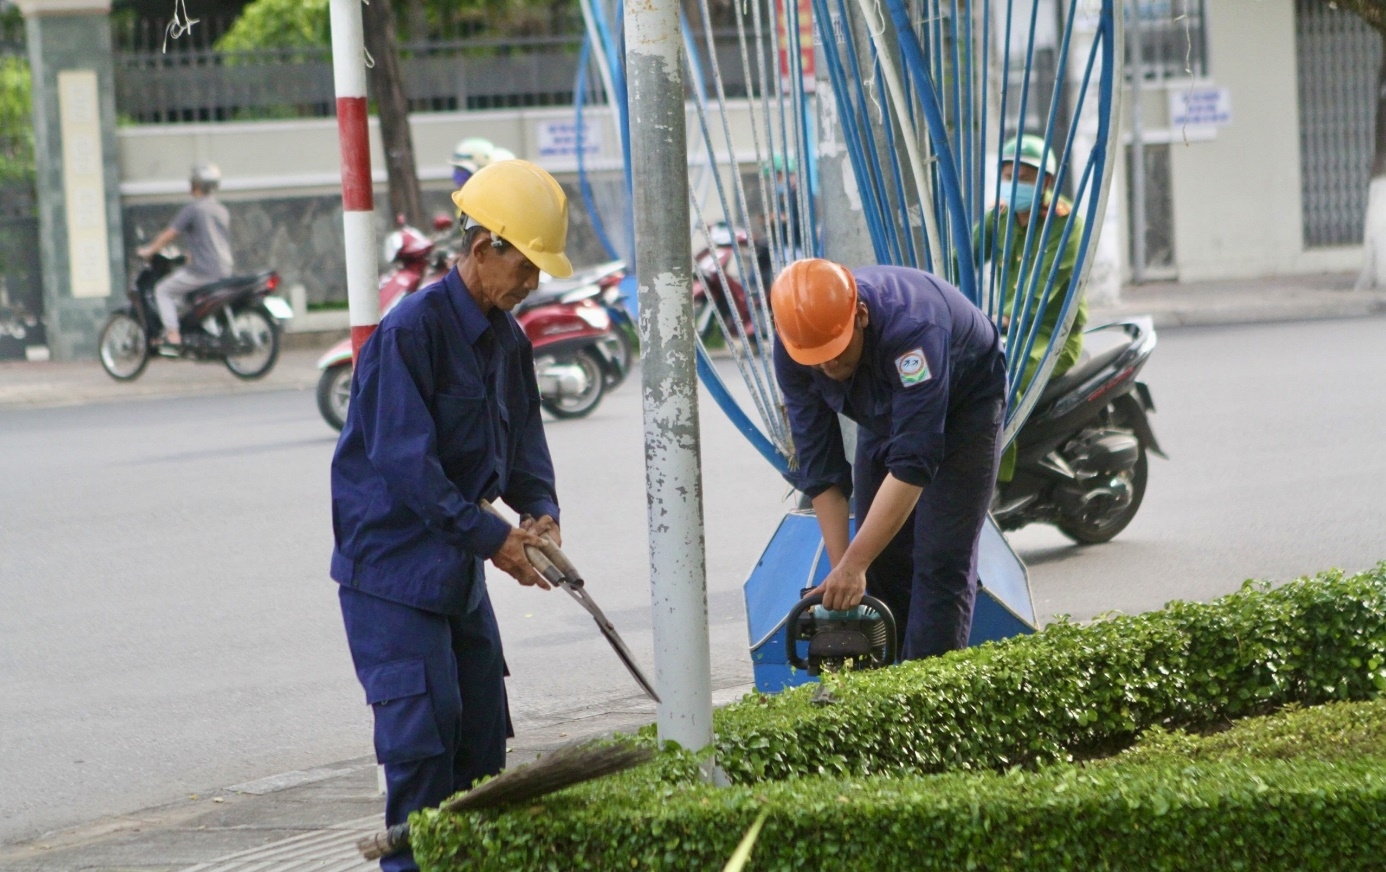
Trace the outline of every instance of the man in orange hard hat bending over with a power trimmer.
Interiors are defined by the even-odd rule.
[[[771,308],[798,456],[789,477],[832,563],[823,606],[884,600],[905,660],[965,647],[1006,406],[995,326],[926,272],[823,259],[790,263]],[[854,466],[839,413],[858,424]]]

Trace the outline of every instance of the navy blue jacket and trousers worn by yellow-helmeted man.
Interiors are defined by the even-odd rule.
[[[510,525],[478,500],[559,520],[534,354],[453,269],[362,347],[333,457],[331,574],[385,764],[385,822],[506,762],[510,715],[482,560]],[[409,853],[381,861],[417,869]]]

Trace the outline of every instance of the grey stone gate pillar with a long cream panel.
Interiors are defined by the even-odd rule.
[[[96,356],[125,288],[109,0],[18,0],[33,83],[43,320],[54,359]]]

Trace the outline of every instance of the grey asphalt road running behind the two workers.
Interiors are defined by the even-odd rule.
[[[1170,453],[1114,542],[1015,537],[1045,618],[1386,559],[1386,319],[1166,331]],[[714,686],[784,485],[704,403]],[[549,427],[565,550],[651,660],[639,385]],[[0,842],[370,751],[327,579],[334,434],[286,391],[0,410]],[[492,582],[517,720],[628,704],[559,592]]]

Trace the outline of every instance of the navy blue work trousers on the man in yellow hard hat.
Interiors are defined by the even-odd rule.
[[[341,607],[356,677],[376,717],[385,825],[500,772],[513,733],[491,598],[482,595],[467,614],[448,616],[342,585]],[[380,868],[419,869],[409,851],[383,858]]]

